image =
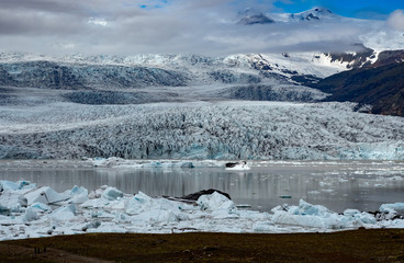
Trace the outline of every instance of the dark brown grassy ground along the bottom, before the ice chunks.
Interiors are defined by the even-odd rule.
[[[404,262],[404,229],[294,235],[91,233],[0,242],[0,262],[108,261]]]

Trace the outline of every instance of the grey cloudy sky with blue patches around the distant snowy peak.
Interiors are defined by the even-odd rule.
[[[374,30],[404,31],[402,0],[1,0],[0,7],[1,50],[49,55],[344,50]],[[237,24],[247,8],[314,7],[364,21]]]

